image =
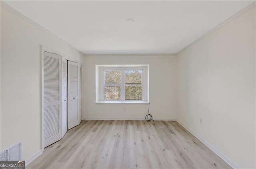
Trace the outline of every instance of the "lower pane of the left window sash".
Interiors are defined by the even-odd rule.
[[[104,100],[120,100],[121,86],[104,86]]]

